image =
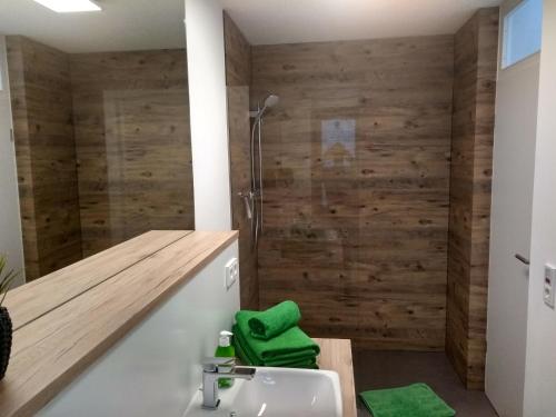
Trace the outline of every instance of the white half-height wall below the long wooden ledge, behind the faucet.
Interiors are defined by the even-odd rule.
[[[225,266],[237,257],[236,240],[38,416],[181,417],[201,385],[202,360],[239,309],[239,282],[225,286]]]

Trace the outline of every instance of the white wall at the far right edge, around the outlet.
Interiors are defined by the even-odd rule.
[[[524,416],[556,415],[556,311],[543,304],[544,265],[556,265],[556,1],[545,0],[533,197]]]

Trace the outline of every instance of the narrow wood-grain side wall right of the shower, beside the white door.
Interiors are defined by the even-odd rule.
[[[468,388],[484,388],[498,8],[455,37],[446,350]]]

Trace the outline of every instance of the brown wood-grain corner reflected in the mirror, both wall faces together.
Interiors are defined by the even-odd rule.
[[[150,229],[192,229],[186,51],[7,40],[27,278]]]

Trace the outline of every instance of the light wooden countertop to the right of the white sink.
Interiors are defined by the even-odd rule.
[[[320,369],[335,370],[340,377],[342,417],[357,417],[351,340],[317,338],[314,340],[320,346],[318,357]]]

